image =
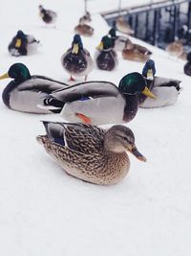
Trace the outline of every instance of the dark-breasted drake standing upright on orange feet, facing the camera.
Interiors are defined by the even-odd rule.
[[[74,35],[72,47],[61,57],[61,63],[71,74],[70,81],[74,81],[73,76],[85,76],[85,81],[87,80],[88,74],[94,68],[94,61],[88,50],[83,47],[80,35]]]

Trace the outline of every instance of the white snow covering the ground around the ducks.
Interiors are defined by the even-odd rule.
[[[88,7],[93,2],[97,10],[100,5],[112,8],[111,0],[90,1]],[[58,12],[56,29],[41,22],[39,4]],[[19,61],[33,75],[68,81],[60,58],[71,45],[83,9],[82,0],[5,1],[0,10],[0,73]],[[93,13],[95,35],[82,38],[92,56],[108,32],[96,9]],[[18,29],[40,39],[36,55],[9,55],[8,44]],[[0,102],[0,255],[190,255],[191,78],[183,75],[182,60],[142,45],[154,52],[157,75],[181,80],[183,91],[176,105],[138,109],[127,126],[147,162],[130,155],[130,173],[117,185],[96,186],[66,175],[37,144],[35,137],[44,133],[40,120],[61,121],[59,115],[20,113]],[[88,79],[117,83],[129,72],[141,72],[142,66],[119,56],[117,70],[95,68]],[[8,82],[1,81],[1,93]]]

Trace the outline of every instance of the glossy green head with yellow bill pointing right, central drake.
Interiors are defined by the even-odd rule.
[[[156,96],[148,89],[144,77],[138,72],[129,73],[124,76],[119,81],[118,90],[127,95],[142,93],[152,99],[156,99]]]

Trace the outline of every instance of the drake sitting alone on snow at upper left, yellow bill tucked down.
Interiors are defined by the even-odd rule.
[[[39,40],[36,40],[33,35],[26,35],[21,30],[12,38],[8,46],[8,50],[12,56],[31,55],[37,50]]]

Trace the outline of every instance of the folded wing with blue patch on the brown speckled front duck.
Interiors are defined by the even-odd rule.
[[[71,151],[91,154],[100,151],[106,130],[86,124],[43,121],[48,138]]]

